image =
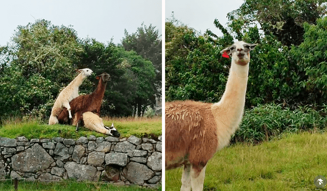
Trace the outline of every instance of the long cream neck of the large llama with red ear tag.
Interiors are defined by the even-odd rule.
[[[221,100],[212,107],[213,115],[227,126],[230,134],[235,133],[241,123],[249,64],[244,66],[231,61],[225,92]]]

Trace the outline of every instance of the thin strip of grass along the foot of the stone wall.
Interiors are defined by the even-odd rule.
[[[15,190],[13,181],[5,181],[0,182],[0,191],[7,190]],[[141,186],[118,186],[111,184],[101,184],[94,182],[26,182],[19,181],[18,190],[26,190],[26,191],[41,191],[41,190],[50,190],[50,191],[89,191],[89,190],[97,190],[97,191],[151,191],[151,190],[161,190],[161,186],[157,188],[146,188]]]

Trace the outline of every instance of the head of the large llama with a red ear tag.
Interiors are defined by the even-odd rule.
[[[246,65],[250,62],[250,51],[253,50],[256,45],[258,44],[238,41],[222,50],[220,53],[226,53],[231,56],[232,60],[239,65]]]

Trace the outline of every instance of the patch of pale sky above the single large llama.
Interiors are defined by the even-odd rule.
[[[203,34],[210,29],[214,34],[222,33],[214,25],[217,18],[221,25],[226,27],[227,13],[240,8],[243,0],[166,0],[165,17],[171,17],[174,11],[175,18],[185,25],[194,28]]]

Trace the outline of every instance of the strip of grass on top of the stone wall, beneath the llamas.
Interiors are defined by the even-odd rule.
[[[81,136],[95,135],[96,137],[107,136],[86,128],[81,128],[76,132],[75,126],[69,125],[51,125],[40,123],[36,120],[22,122],[19,118],[10,119],[3,122],[0,128],[0,136],[16,138],[17,136],[25,136],[26,138],[79,138]],[[161,117],[156,118],[109,118],[103,117],[103,123],[111,126],[114,123],[115,128],[120,132],[121,137],[129,137],[135,135],[137,137],[161,135],[162,122]]]

